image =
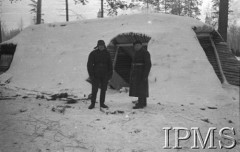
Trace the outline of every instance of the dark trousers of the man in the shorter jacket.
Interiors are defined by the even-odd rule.
[[[108,80],[107,80],[106,77],[94,78],[94,80],[92,81],[92,98],[91,98],[91,103],[92,104],[95,105],[99,86],[100,86],[100,89],[101,89],[100,105],[104,104],[105,96],[106,96],[106,90],[107,90],[107,84],[108,84]]]

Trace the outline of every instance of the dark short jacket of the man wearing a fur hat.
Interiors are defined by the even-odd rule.
[[[110,53],[105,50],[93,50],[88,56],[87,70],[91,79],[111,79],[113,74],[112,60]]]

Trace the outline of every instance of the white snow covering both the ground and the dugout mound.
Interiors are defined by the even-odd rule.
[[[187,17],[135,14],[28,27],[7,42],[17,44],[17,49],[10,69],[0,75],[0,150],[179,151],[162,148],[163,127],[200,127],[205,137],[214,126],[218,131],[234,127],[237,145],[231,150],[200,151],[239,151],[239,88],[222,86],[218,80],[192,30],[203,25]],[[98,106],[88,110],[88,54],[98,39],[109,43],[126,32],[151,37],[148,107],[132,110],[135,99],[109,89],[109,113],[100,112]],[[10,83],[4,84],[6,80]],[[78,103],[45,99],[61,92]],[[216,145],[218,140],[216,135]],[[192,141],[182,142],[182,151],[194,151]]]

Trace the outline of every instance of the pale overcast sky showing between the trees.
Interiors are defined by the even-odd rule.
[[[237,0],[239,1],[239,0]],[[32,24],[33,14],[30,13],[31,7],[28,5],[30,0],[21,0],[17,3],[10,3],[9,0],[2,0],[1,20],[4,28],[8,30],[19,27],[21,20],[24,27]],[[205,11],[211,0],[203,0],[201,8],[202,15],[205,16]],[[238,3],[240,6],[240,3]],[[69,0],[70,21],[96,18],[100,8],[100,0],[89,0],[85,6],[75,5],[73,0]],[[238,7],[240,8],[240,7]],[[42,0],[42,13],[45,23],[65,22],[65,0]],[[204,18],[202,16],[202,18]]]

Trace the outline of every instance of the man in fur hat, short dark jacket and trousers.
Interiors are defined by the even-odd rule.
[[[100,86],[100,107],[108,108],[104,104],[108,81],[113,74],[112,60],[110,53],[106,49],[105,42],[99,40],[95,50],[93,50],[88,57],[87,69],[90,79],[92,81],[92,97],[91,105],[88,109],[95,107],[98,88]]]

